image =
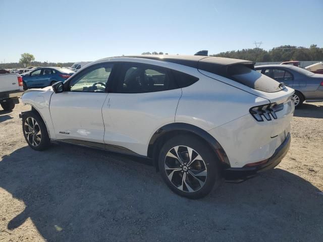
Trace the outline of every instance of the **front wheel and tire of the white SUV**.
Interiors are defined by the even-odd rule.
[[[49,147],[50,140],[45,123],[36,112],[26,112],[22,118],[22,130],[28,145],[37,151]]]

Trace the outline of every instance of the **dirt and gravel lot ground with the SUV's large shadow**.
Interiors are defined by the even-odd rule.
[[[323,103],[296,110],[276,168],[192,201],[146,160],[53,145],[30,149],[0,107],[0,241],[321,241]]]

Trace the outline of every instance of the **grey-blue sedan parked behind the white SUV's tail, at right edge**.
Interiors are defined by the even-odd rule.
[[[304,101],[323,101],[323,75],[321,74],[314,74],[290,65],[264,65],[254,69],[295,89],[292,97],[295,108],[300,107]]]

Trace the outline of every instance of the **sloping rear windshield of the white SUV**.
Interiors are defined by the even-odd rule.
[[[279,82],[243,65],[229,67],[228,74],[229,78],[255,90],[263,92],[278,92],[282,90],[279,87]]]

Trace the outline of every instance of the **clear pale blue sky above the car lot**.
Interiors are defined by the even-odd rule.
[[[323,0],[0,0],[0,63],[323,47]]]

